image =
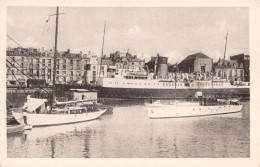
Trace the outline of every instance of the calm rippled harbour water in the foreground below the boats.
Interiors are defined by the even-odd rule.
[[[114,100],[113,114],[7,135],[9,158],[250,157],[250,102],[241,114],[149,119],[144,101]]]

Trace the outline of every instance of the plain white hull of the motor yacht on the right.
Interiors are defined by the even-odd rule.
[[[146,104],[146,110],[151,119],[160,118],[185,118],[185,117],[202,117],[212,115],[223,115],[241,112],[242,105],[221,105],[221,106],[155,106]]]

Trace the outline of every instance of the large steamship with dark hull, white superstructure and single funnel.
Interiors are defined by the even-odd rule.
[[[186,98],[198,90],[206,96],[249,97],[249,85],[232,85],[226,79],[183,80],[169,76],[166,57],[158,57],[156,73],[128,73],[114,78],[99,78],[100,98]]]

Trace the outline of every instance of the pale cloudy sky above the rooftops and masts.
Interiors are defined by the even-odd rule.
[[[217,61],[249,54],[249,10],[238,7],[60,7],[58,50],[101,56],[128,50],[148,61],[158,53],[169,63],[202,52]],[[7,35],[22,47],[54,48],[55,7],[7,7]],[[49,21],[46,23],[46,20]],[[7,39],[7,47],[18,47]]]

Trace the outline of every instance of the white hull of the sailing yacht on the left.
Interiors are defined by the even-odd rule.
[[[87,112],[83,114],[35,114],[27,113],[27,123],[33,127],[43,127],[43,126],[55,126],[64,124],[73,124],[78,122],[91,121],[99,118],[104,114],[107,109],[103,109],[96,112]],[[23,116],[21,113],[13,112],[14,117],[17,120]]]

